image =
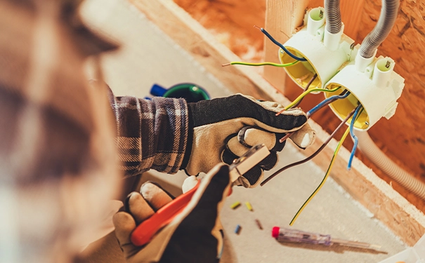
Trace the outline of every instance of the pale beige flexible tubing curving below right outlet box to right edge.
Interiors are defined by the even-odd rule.
[[[358,147],[365,156],[370,159],[379,169],[381,169],[388,176],[393,178],[396,182],[403,185],[407,190],[413,194],[425,199],[425,183],[417,180],[416,177],[407,173],[406,170],[400,168],[396,163],[384,154],[377,144],[374,144],[372,138],[367,132],[355,131],[358,136]]]

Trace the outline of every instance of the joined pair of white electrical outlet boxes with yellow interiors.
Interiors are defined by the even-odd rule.
[[[334,93],[325,93],[325,97],[350,91],[348,97],[336,100],[329,107],[342,121],[362,104],[363,111],[354,123],[356,130],[368,130],[383,116],[391,118],[405,86],[403,77],[393,71],[394,60],[382,56],[362,58],[358,53],[360,45],[343,34],[344,25],[337,34],[326,32],[322,7],[306,11],[304,25],[284,46],[307,61],[285,67],[288,76],[303,89],[315,74],[318,76],[309,89],[341,87]],[[295,61],[282,49],[279,58],[282,64]]]

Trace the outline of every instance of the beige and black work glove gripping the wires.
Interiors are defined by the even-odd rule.
[[[263,102],[247,95],[232,95],[214,100],[188,103],[189,135],[182,168],[188,175],[207,173],[217,163],[232,163],[256,144],[265,144],[270,155],[240,177],[235,184],[256,187],[263,170],[270,170],[277,161],[277,151],[290,138],[300,148],[313,143],[315,132],[308,126],[306,114],[299,108],[288,109],[277,102]]]

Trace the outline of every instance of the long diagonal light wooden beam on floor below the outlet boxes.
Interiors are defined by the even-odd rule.
[[[249,67],[222,68],[223,63],[239,60],[239,58],[218,43],[207,29],[204,29],[172,0],[130,1],[233,92],[274,100],[282,104],[289,102],[282,93],[277,92],[253,69]],[[306,155],[318,149],[329,136],[314,121],[310,121],[310,126],[317,131],[318,137],[314,145],[303,152]],[[320,168],[326,170],[329,166],[336,143],[332,140],[322,151],[320,158],[313,159]],[[336,159],[332,177],[407,245],[416,243],[425,233],[425,216],[358,159],[354,159],[353,168],[348,172],[346,170],[348,156],[348,150],[343,147]]]

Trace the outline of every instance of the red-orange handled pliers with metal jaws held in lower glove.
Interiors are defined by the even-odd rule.
[[[244,155],[240,156],[239,159],[235,161],[229,167],[230,180],[235,182],[237,178],[242,176],[244,173],[254,166],[257,163],[262,161],[266,156],[270,154],[267,147],[264,144],[257,144],[247,151]],[[157,210],[157,213],[149,217],[148,220],[143,221],[141,224],[134,229],[131,233],[131,242],[134,245],[140,246],[148,243],[152,237],[165,227],[169,222],[174,220],[174,217],[181,213],[181,211],[188,205],[190,199],[192,199],[193,194],[200,185],[200,181],[197,182],[195,187],[185,192],[181,196],[178,196],[170,203],[167,203],[162,208]]]

